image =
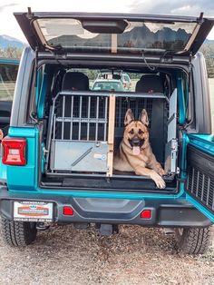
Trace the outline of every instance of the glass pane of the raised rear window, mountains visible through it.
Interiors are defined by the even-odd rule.
[[[40,18],[34,21],[44,44],[76,52],[139,53],[142,50],[182,52],[196,23],[128,22],[122,34],[96,34],[72,18]]]

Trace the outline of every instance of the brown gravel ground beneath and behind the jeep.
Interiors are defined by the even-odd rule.
[[[214,284],[214,246],[197,257],[175,250],[173,234],[121,226],[101,237],[94,228],[53,226],[34,244],[5,246],[0,237],[0,284]]]

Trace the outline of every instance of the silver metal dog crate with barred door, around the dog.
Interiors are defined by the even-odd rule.
[[[176,123],[171,127],[173,120],[170,118],[170,106],[177,100],[176,90],[171,98],[169,100],[162,93],[58,93],[50,110],[46,172],[112,176],[113,151],[122,140],[128,108],[136,119],[143,108],[147,110],[152,150],[157,160],[164,164],[165,145],[170,145],[171,135],[176,139]],[[173,115],[176,118],[174,111]],[[170,127],[167,127],[169,120]],[[167,148],[168,156],[169,152],[170,146]],[[165,163],[165,166],[170,172],[174,162],[170,166]]]

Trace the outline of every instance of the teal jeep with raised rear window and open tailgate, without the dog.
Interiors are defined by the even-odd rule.
[[[175,231],[202,253],[214,221],[214,140],[209,84],[199,53],[214,20],[193,16],[15,13],[24,49],[10,127],[2,142],[0,211],[5,241],[24,246],[50,223],[120,224]],[[90,90],[105,69],[131,91]],[[113,170],[124,115],[147,110],[166,187]]]

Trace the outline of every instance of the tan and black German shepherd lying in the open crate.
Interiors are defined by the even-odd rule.
[[[124,125],[120,149],[114,155],[113,169],[150,176],[158,188],[165,188],[165,182],[161,178],[165,172],[156,161],[149,142],[149,120],[146,110],[141,111],[139,120],[134,120],[131,109],[128,109]]]

